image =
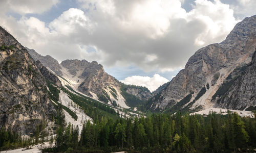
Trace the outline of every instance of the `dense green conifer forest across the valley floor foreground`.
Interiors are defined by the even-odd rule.
[[[211,112],[203,115],[153,114],[113,120],[101,118],[57,130],[45,152],[251,152],[256,148],[256,118]]]

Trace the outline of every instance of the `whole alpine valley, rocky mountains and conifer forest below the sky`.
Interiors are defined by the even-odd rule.
[[[59,63],[42,56],[2,27],[0,46],[1,150],[30,148],[48,136],[56,137],[55,148],[46,152],[243,152],[245,143],[249,152],[255,148],[256,15],[237,23],[224,41],[197,50],[154,92],[118,81],[96,61]],[[246,127],[238,115],[251,117],[243,118]],[[241,138],[227,136],[234,123],[241,123],[232,126]],[[245,134],[247,127],[254,131]],[[228,147],[215,144],[217,139]]]

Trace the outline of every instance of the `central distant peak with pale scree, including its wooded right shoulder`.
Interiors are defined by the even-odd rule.
[[[106,73],[101,64],[86,60],[65,60],[60,64],[64,78],[70,78],[71,84],[79,92],[98,98],[105,103],[124,108],[135,107],[151,97],[148,89],[130,87],[122,84]]]

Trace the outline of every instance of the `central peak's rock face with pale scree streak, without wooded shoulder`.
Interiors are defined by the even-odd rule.
[[[120,84],[96,61],[90,63],[86,60],[65,60],[61,62],[61,66],[68,70],[75,82],[79,83],[77,89],[81,93],[90,96],[96,94],[106,103],[117,101],[117,97],[121,96],[117,93],[120,91]]]

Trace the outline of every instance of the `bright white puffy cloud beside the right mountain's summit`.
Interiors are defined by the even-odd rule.
[[[219,0],[215,0],[215,3],[196,0],[195,4],[193,10],[188,13],[188,20],[198,19],[205,24],[204,31],[195,40],[198,46],[221,41],[238,22],[233,17],[233,10],[229,8],[229,5]]]

